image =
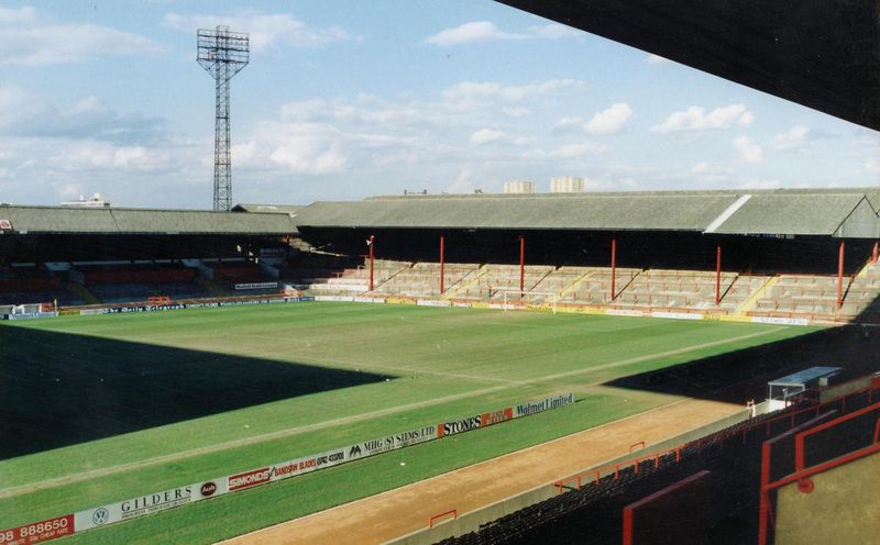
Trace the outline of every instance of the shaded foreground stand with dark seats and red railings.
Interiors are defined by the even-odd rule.
[[[688,534],[675,543],[770,543],[777,489],[800,482],[802,491],[809,491],[806,476],[880,448],[880,381],[867,377],[851,383],[856,390],[843,396],[822,402],[804,396],[782,411],[558,481],[557,497],[439,543],[666,543],[676,519]],[[638,534],[632,520],[626,520],[628,508],[657,500],[658,492],[695,475],[701,475],[703,487],[691,493],[698,494],[701,509],[694,513],[668,504],[666,519],[639,521],[641,535],[653,537],[634,538]],[[792,526],[796,524],[788,527]]]

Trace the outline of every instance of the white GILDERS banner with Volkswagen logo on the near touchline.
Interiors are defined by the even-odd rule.
[[[118,501],[99,508],[79,511],[74,514],[74,527],[77,532],[94,527],[106,526],[116,522],[127,521],[150,513],[157,513],[166,509],[185,505],[200,500],[201,497],[194,485],[177,487],[146,496],[139,496],[124,501]]]

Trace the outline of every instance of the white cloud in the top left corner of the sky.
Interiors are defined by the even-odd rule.
[[[98,55],[144,55],[164,48],[143,36],[107,26],[43,21],[33,8],[0,8],[0,65],[51,65]]]

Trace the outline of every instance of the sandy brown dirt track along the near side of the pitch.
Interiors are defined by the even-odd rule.
[[[717,401],[679,401],[223,543],[384,543],[425,529],[438,513],[474,511],[627,454],[636,442],[658,443],[743,410]]]

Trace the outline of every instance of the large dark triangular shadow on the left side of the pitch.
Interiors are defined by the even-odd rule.
[[[385,378],[0,325],[0,459]]]

